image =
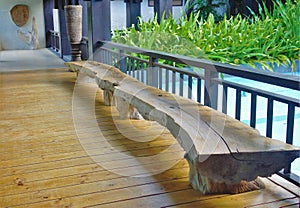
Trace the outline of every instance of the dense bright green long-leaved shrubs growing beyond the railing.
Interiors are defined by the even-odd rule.
[[[263,6],[265,7],[265,5]],[[164,51],[230,64],[256,63],[272,70],[272,64],[291,64],[299,60],[300,6],[297,1],[274,2],[269,12],[244,18],[240,15],[215,23],[214,16],[172,17],[160,24],[157,18],[139,20],[138,30],[115,31],[113,41],[131,46]],[[271,66],[270,66],[271,64]]]

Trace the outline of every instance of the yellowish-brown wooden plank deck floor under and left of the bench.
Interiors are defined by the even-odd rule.
[[[189,186],[184,159],[162,173],[133,177],[175,161],[182,150],[153,123],[119,121],[99,92],[95,118],[102,140],[93,128],[78,136],[72,117],[75,81],[75,73],[65,69],[0,73],[1,208],[299,207],[299,187],[276,175],[263,179],[263,190],[208,196]],[[149,138],[155,139],[139,141]],[[174,149],[164,153],[170,145]],[[149,164],[137,165],[126,155],[150,158]]]

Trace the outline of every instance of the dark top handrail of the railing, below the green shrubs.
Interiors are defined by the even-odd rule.
[[[192,58],[182,55],[175,55],[165,52],[153,51],[149,49],[131,47],[128,45],[114,43],[111,41],[98,41],[99,47],[117,48],[119,50],[128,51],[131,53],[143,54],[149,57],[174,61],[176,63],[186,64],[189,66],[204,68],[205,70],[217,71],[220,73],[239,76],[255,81],[273,84],[280,87],[286,87],[293,90],[300,89],[300,79],[287,74],[278,74],[266,70],[250,69],[246,66],[235,66],[207,59]],[[192,73],[192,72],[190,72]],[[197,75],[195,73],[195,75]]]

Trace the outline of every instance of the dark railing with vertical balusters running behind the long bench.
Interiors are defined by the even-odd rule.
[[[113,42],[99,41],[98,43],[99,48],[93,54],[94,60],[114,65],[147,85],[194,99],[223,113],[234,108],[235,115],[233,117],[238,120],[241,120],[242,96],[244,93],[250,94],[249,125],[251,127],[256,127],[257,99],[266,99],[265,136],[270,138],[274,136],[272,134],[274,103],[283,103],[287,106],[285,142],[299,146],[300,138],[294,136],[295,121],[299,116],[299,113],[296,112],[300,112],[298,99],[226,79],[227,77],[239,77],[273,87],[284,87],[290,93],[299,93],[299,77],[145,50]],[[162,64],[162,61],[173,63],[173,65]],[[176,67],[178,64],[184,65],[185,69]],[[225,79],[222,79],[220,74]],[[235,91],[234,98],[228,96],[229,90]],[[230,99],[235,100],[234,106],[228,106]],[[300,166],[299,162],[298,166]],[[299,185],[300,177],[293,173],[291,164],[287,164],[286,168],[278,174]]]

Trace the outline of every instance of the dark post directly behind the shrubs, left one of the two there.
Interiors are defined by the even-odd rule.
[[[126,27],[135,26],[137,29],[138,19],[141,16],[142,0],[124,0],[126,3]]]

